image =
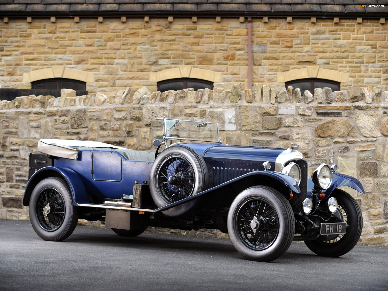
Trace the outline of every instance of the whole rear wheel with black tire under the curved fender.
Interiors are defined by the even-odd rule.
[[[50,177],[35,186],[29,200],[29,218],[42,239],[63,241],[73,233],[78,216],[79,208],[73,205],[65,180]]]

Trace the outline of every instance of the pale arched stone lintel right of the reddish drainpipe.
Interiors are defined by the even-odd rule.
[[[332,80],[340,83],[348,82],[348,74],[334,70],[322,69],[319,66],[308,66],[303,69],[290,70],[277,74],[278,82],[288,82],[298,79],[318,78]]]

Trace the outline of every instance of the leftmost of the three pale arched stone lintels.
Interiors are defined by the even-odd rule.
[[[52,66],[49,69],[23,73],[23,82],[33,82],[44,79],[65,78],[83,82],[94,82],[94,74],[81,70],[68,69],[65,66]]]

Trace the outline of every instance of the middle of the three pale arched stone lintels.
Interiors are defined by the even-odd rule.
[[[205,69],[192,68],[192,66],[179,66],[179,68],[166,69],[150,73],[151,82],[159,82],[176,78],[195,78],[211,82],[221,82],[221,73]]]

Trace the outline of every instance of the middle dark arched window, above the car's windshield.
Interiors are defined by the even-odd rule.
[[[160,92],[165,92],[167,90],[178,91],[187,88],[194,88],[194,91],[204,88],[213,90],[213,82],[191,78],[168,79],[158,82],[158,91]]]

